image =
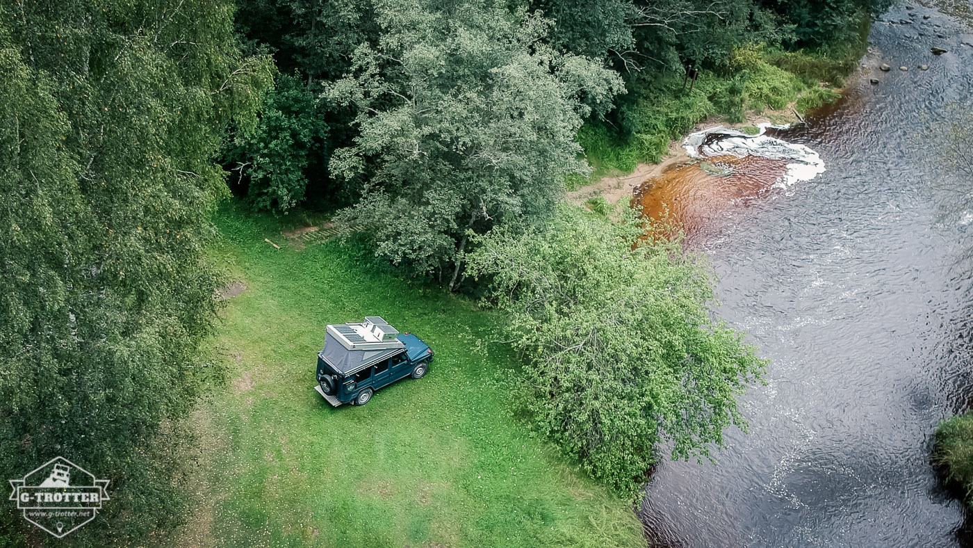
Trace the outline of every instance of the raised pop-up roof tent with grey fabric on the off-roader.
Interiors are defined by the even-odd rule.
[[[329,325],[324,348],[317,355],[342,375],[354,375],[402,353],[406,346],[398,340],[398,335],[398,330],[381,316],[365,316],[362,323]]]

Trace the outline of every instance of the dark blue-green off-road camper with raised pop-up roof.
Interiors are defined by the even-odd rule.
[[[365,405],[378,388],[429,371],[433,351],[421,339],[400,334],[381,316],[329,325],[317,353],[314,389],[331,405]]]

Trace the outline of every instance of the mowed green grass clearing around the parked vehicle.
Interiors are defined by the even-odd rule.
[[[384,274],[338,241],[285,246],[231,205],[214,257],[246,291],[215,345],[230,383],[198,413],[200,494],[181,544],[636,546],[631,505],[515,418],[503,318]],[[284,229],[292,227],[283,227]],[[313,389],[325,325],[381,315],[436,350],[429,373],[334,409]]]

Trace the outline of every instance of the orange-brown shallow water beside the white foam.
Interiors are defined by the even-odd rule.
[[[673,165],[635,189],[632,201],[649,218],[668,218],[682,227],[687,242],[717,232],[728,213],[767,199],[788,161],[759,156],[716,156]]]

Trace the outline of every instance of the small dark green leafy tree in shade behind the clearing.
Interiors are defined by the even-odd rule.
[[[328,128],[296,76],[277,77],[254,131],[237,131],[224,153],[237,184],[260,209],[287,211],[305,201],[307,165],[327,152]]]

